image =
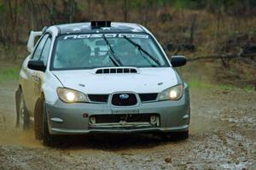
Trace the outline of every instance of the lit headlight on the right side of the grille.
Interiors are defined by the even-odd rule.
[[[183,85],[178,84],[172,88],[167,88],[160,94],[159,100],[177,100],[183,96]]]

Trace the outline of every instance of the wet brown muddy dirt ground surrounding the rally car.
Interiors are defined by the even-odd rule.
[[[191,89],[190,136],[75,136],[44,147],[15,129],[16,82],[0,82],[0,169],[256,169],[256,93]]]

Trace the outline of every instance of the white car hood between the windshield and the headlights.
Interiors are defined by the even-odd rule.
[[[53,71],[65,88],[84,94],[160,93],[177,84],[172,67],[140,68],[138,73],[96,74],[93,70]]]

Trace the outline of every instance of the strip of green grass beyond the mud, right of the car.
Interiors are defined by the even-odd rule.
[[[198,81],[198,80],[190,80],[188,82],[189,88],[201,88],[201,89],[222,89],[222,90],[237,90],[237,89],[243,89],[247,93],[253,92],[253,86],[247,85],[245,88],[238,88],[234,85],[230,84],[212,84],[212,83],[207,83],[203,81]]]

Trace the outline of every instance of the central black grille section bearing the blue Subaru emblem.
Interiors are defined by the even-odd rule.
[[[126,97],[122,97],[122,95]],[[135,94],[113,94],[112,104],[118,106],[136,105],[137,98]]]

